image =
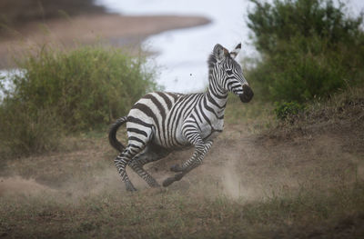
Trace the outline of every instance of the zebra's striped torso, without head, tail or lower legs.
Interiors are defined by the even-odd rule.
[[[128,138],[138,138],[141,142],[149,138],[167,149],[183,148],[191,145],[183,134],[191,127],[197,128],[204,140],[213,139],[223,130],[226,98],[222,105],[216,101],[214,105],[207,94],[155,92],[145,95],[127,115]]]

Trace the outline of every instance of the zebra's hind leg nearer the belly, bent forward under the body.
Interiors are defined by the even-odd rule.
[[[169,151],[162,149],[157,145],[148,145],[145,152],[133,158],[128,165],[136,174],[143,178],[150,187],[159,187],[160,185],[157,183],[156,179],[147,173],[143,168],[143,165],[164,158],[169,153]]]

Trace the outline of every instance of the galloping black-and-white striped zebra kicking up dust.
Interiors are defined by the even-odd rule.
[[[214,46],[207,60],[209,85],[205,93],[149,93],[132,106],[128,115],[111,125],[109,143],[119,151],[114,163],[127,191],[136,191],[136,188],[126,174],[126,165],[149,186],[159,187],[143,165],[173,151],[194,147],[193,155],[186,162],[170,168],[176,174],[163,181],[167,187],[202,164],[213,139],[223,131],[227,93],[238,95],[243,103],[248,103],[254,95],[235,60],[240,49],[241,44],[231,52],[222,45]],[[126,146],[116,139],[117,129],[125,123]]]

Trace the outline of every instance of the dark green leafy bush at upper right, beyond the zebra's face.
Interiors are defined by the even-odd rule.
[[[363,15],[331,0],[251,0],[248,27],[261,59],[248,78],[268,101],[302,104],[362,81]]]

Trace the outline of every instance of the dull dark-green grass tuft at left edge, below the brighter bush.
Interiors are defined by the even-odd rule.
[[[37,154],[56,150],[63,136],[54,112],[29,112],[26,105],[4,102],[0,105],[0,154]]]

